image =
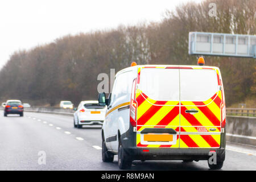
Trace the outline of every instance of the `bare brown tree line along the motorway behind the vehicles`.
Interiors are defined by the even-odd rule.
[[[209,16],[209,3],[217,15]],[[13,53],[0,71],[0,100],[19,98],[51,106],[60,100],[97,100],[97,76],[137,64],[196,65],[188,55],[190,31],[256,34],[255,0],[205,0],[166,11],[160,22],[119,26],[109,31],[67,35]],[[205,56],[221,69],[226,104],[255,100],[255,59]]]

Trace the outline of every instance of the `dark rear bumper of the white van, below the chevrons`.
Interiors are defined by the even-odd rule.
[[[225,160],[225,148],[125,148],[131,160],[208,160],[210,150],[216,151],[217,162]]]

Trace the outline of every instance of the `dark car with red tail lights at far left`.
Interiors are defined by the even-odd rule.
[[[5,111],[3,115],[7,117],[7,114],[19,114],[23,116],[23,105],[19,100],[8,100],[6,101]]]

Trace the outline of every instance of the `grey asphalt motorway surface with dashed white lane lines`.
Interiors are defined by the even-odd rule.
[[[46,164],[39,164],[45,154]],[[40,160],[41,161],[41,160]],[[256,170],[256,147],[227,144],[222,170]],[[69,115],[0,111],[0,170],[119,170],[101,161],[101,126],[73,127]],[[209,170],[207,161],[135,161],[131,170]]]

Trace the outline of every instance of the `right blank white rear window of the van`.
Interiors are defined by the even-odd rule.
[[[206,101],[218,91],[213,69],[180,69],[180,100]]]

